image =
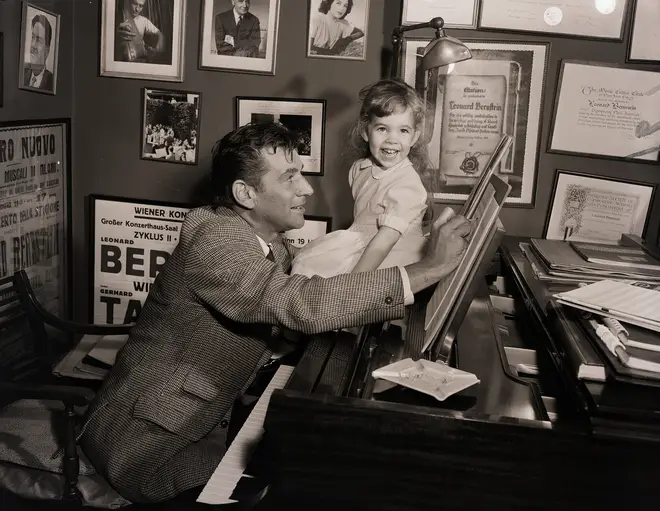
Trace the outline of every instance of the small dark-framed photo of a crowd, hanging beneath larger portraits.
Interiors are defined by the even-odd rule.
[[[198,162],[201,94],[143,89],[143,160],[196,165]]]

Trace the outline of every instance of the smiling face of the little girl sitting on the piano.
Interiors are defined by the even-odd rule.
[[[419,135],[413,113],[406,108],[385,117],[372,117],[362,138],[378,166],[390,169],[408,157]]]

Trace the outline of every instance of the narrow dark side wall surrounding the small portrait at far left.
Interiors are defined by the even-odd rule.
[[[4,106],[0,108],[0,122],[71,117],[73,113],[73,1],[32,0],[32,3],[61,15],[57,95],[18,88],[22,4],[18,0],[0,1],[0,32],[4,33],[0,60],[4,71]]]

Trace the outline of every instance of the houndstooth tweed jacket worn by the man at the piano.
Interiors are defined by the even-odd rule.
[[[398,268],[322,279],[290,276],[227,208],[188,213],[128,342],[88,412],[81,445],[133,502],[204,484],[234,400],[269,359],[279,327],[314,334],[403,317]]]

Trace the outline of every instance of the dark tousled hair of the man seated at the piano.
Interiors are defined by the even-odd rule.
[[[213,146],[212,204],[233,206],[232,185],[239,179],[261,189],[261,177],[268,170],[262,149],[283,149],[290,154],[299,144],[298,133],[277,122],[249,123],[227,133]]]

